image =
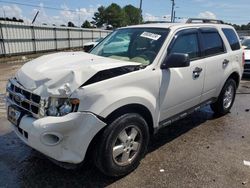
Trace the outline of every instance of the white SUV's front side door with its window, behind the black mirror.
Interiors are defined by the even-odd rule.
[[[206,66],[200,58],[197,29],[177,32],[168,49],[168,54],[171,53],[187,53],[191,62],[189,67],[162,70],[160,122],[198,105],[203,90]]]

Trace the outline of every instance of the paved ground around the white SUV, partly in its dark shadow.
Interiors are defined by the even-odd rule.
[[[27,147],[5,117],[6,80],[20,64],[0,64],[0,187],[250,187],[250,80],[244,79],[231,113],[209,107],[163,129],[140,166],[109,178],[91,164],[65,170]]]

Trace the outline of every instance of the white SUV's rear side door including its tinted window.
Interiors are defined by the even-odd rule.
[[[200,28],[202,58],[206,63],[204,89],[201,101],[216,97],[230,59],[224,42],[215,28]]]

